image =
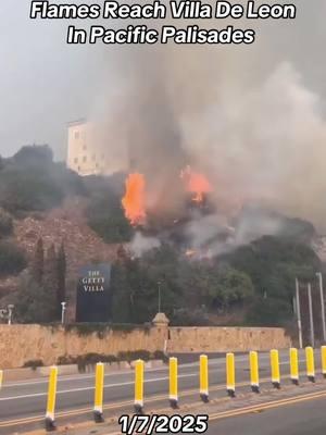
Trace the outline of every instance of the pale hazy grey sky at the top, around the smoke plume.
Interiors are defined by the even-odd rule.
[[[260,50],[266,51],[261,67],[290,61],[325,104],[326,1],[297,0],[297,4],[296,22],[263,25],[258,35]],[[112,52],[128,55],[133,48],[66,46],[67,23],[30,21],[29,5],[30,0],[0,1],[0,153],[10,156],[22,145],[47,142],[63,159],[66,122],[89,114],[104,83],[114,87],[112,77],[118,70],[111,64]],[[214,50],[218,52],[218,46]]]

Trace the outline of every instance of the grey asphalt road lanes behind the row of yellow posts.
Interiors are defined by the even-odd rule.
[[[304,355],[300,353],[300,370],[305,370]],[[319,370],[319,356],[316,352],[316,370]],[[280,352],[280,372],[288,376],[288,351]],[[266,382],[269,378],[269,355],[260,355],[260,374]],[[249,363],[247,355],[236,357],[238,388],[249,390]],[[288,383],[289,381],[287,381]],[[198,401],[199,369],[198,363],[179,365],[179,393],[183,402]],[[225,359],[210,360],[211,397],[225,397]],[[0,434],[12,434],[22,427],[42,425],[47,401],[47,380],[36,380],[3,385],[0,391]],[[167,405],[167,368],[146,371],[146,408],[162,408]],[[192,390],[192,391],[191,391]],[[188,393],[187,393],[188,391]],[[183,396],[185,394],[185,396]],[[131,371],[111,373],[104,381],[104,415],[116,415],[133,409],[134,373]],[[57,415],[67,423],[70,420],[91,419],[93,403],[93,375],[80,374],[59,377]],[[78,410],[78,411],[76,411]],[[20,420],[20,421],[18,421]],[[27,424],[28,423],[28,424]]]

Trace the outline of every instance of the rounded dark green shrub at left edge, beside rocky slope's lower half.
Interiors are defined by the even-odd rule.
[[[14,275],[27,265],[23,251],[9,241],[0,243],[0,276]]]

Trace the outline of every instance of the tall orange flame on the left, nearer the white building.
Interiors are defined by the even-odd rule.
[[[122,199],[125,216],[131,225],[141,225],[146,220],[145,211],[145,176],[142,174],[129,174],[126,179],[126,192]]]

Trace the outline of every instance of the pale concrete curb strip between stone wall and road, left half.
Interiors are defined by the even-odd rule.
[[[162,360],[151,360],[145,363],[146,369],[154,369],[163,366],[164,362]],[[118,372],[121,370],[133,370],[135,366],[135,361],[121,361],[121,362],[112,362],[104,363],[105,373],[110,372]],[[67,365],[58,365],[59,376],[65,375],[75,375],[75,374],[85,374],[85,373],[93,373],[96,364],[86,365],[85,371],[79,371],[77,364],[67,364]],[[13,381],[28,381],[40,377],[48,377],[50,373],[50,366],[41,366],[41,368],[23,368],[23,369],[8,369],[3,370],[3,383],[13,382]]]

